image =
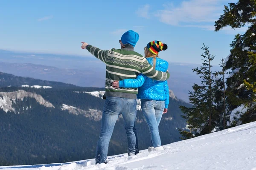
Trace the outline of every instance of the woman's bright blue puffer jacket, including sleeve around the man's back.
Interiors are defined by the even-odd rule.
[[[166,72],[168,70],[168,62],[166,60],[156,58],[156,70]],[[148,57],[148,62],[153,65],[153,58]],[[120,87],[138,88],[138,99],[149,99],[157,101],[165,101],[165,108],[169,104],[169,87],[167,81],[156,81],[139,74],[136,79],[124,79],[119,81]]]

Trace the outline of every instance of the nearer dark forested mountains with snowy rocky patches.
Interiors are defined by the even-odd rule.
[[[44,164],[91,159],[95,156],[105,100],[104,88],[0,73],[0,165]],[[180,140],[186,129],[179,105],[188,103],[170,91],[168,113],[160,122],[163,144]],[[148,126],[137,105],[139,149],[150,142]],[[109,155],[126,153],[122,115],[116,122]]]

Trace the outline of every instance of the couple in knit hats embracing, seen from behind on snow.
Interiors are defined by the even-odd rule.
[[[107,163],[108,145],[119,114],[124,119],[128,142],[128,156],[139,153],[135,119],[137,97],[141,100],[143,115],[148,124],[151,150],[163,150],[158,125],[169,104],[168,62],[158,58],[159,51],[167,45],[151,41],[144,48],[145,57],[134,51],[139,34],[132,30],[125,32],[119,43],[121,49],[100,50],[82,42],[87,49],[106,65],[105,105],[102,112],[101,132],[96,147],[96,164]],[[139,87],[139,89],[138,89]]]

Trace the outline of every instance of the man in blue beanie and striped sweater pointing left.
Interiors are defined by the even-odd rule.
[[[114,80],[136,78],[140,73],[159,81],[169,79],[169,72],[156,71],[141,54],[134,51],[139,34],[132,30],[125,32],[121,49],[100,50],[82,42],[87,49],[106,65],[105,105],[102,112],[101,132],[96,147],[96,164],[107,163],[108,145],[119,114],[122,114],[128,142],[128,156],[139,153],[135,119],[137,114],[137,88],[113,88]]]

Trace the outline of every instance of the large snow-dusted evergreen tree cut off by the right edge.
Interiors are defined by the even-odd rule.
[[[256,121],[255,107],[255,53],[256,53],[256,0],[239,0],[224,7],[224,14],[215,22],[215,31],[225,26],[241,28],[249,26],[244,34],[237,34],[230,44],[230,56],[225,69],[231,70],[227,78],[228,110],[230,120],[237,118],[228,125]],[[236,110],[234,110],[236,109]],[[234,112],[237,111],[238,115]],[[243,111],[241,111],[243,110]],[[234,115],[235,114],[235,115]]]

